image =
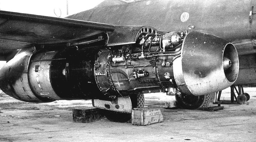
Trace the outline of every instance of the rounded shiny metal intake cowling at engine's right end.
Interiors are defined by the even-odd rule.
[[[183,41],[181,57],[173,62],[174,78],[183,94],[209,94],[231,86],[238,77],[238,53],[232,43],[192,31]]]

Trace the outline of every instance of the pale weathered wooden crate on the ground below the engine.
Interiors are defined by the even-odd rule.
[[[149,125],[163,122],[163,108],[134,108],[131,112],[131,124]]]

